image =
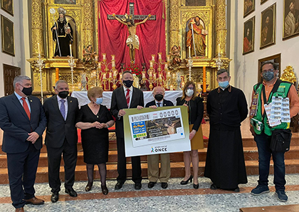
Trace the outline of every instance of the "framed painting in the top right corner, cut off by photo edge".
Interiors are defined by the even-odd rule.
[[[296,23],[299,24],[298,18],[299,18],[299,0],[293,0],[294,4],[294,11],[297,16],[294,16],[290,12],[290,3],[291,0],[284,0],[283,1],[283,41],[288,38],[293,38],[295,36],[299,35],[299,27],[291,26],[292,19],[295,18]],[[290,14],[290,16],[289,16]],[[293,16],[292,16],[293,15]],[[289,27],[288,27],[289,26]]]

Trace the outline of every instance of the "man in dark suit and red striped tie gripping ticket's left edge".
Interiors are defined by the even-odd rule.
[[[123,86],[113,90],[110,111],[115,117],[115,129],[117,137],[117,184],[115,190],[121,189],[127,179],[127,165],[125,159],[125,139],[124,139],[124,124],[123,116],[125,108],[137,108],[141,110],[145,105],[143,92],[138,88],[134,88],[133,75],[130,71],[122,73]],[[132,159],[132,181],[135,182],[135,189],[141,189],[141,164],[140,157],[131,157]]]

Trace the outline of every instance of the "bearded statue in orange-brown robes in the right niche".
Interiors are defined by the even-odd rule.
[[[204,29],[204,22],[199,16],[196,16],[188,23],[188,28],[186,46],[187,48],[190,46],[191,56],[206,55],[206,35],[208,31]]]

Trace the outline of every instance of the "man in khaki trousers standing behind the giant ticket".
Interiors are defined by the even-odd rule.
[[[152,109],[157,109],[157,107],[167,107],[174,106],[171,101],[164,100],[165,90],[164,88],[158,86],[152,90],[152,95],[154,100],[148,102],[145,107],[150,107]],[[161,157],[161,169],[159,176],[159,156]],[[150,180],[147,187],[150,189],[154,187],[157,180],[160,179],[162,189],[167,189],[168,179],[170,177],[170,159],[169,153],[166,154],[152,154],[147,156],[147,176]]]

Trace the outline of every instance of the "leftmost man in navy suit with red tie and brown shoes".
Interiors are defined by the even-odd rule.
[[[2,150],[7,155],[11,201],[16,211],[23,211],[26,203],[44,203],[34,196],[33,185],[47,120],[40,100],[30,96],[31,92],[31,79],[19,75],[14,78],[14,93],[0,98]]]

